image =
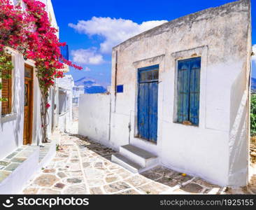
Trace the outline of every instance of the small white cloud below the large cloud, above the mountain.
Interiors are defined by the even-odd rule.
[[[97,65],[104,63],[103,56],[97,53],[96,48],[71,50],[71,55],[73,56],[73,62],[77,62],[78,64]]]

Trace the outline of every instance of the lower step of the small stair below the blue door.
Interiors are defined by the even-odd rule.
[[[111,156],[111,161],[117,163],[118,165],[128,169],[130,172],[138,173],[143,169],[140,165],[136,164],[135,162],[132,162],[128,158],[125,158],[125,156],[118,154],[113,154]]]

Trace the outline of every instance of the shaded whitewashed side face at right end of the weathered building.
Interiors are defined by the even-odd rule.
[[[248,142],[247,112],[248,92],[246,78],[242,73],[236,77],[230,98],[230,133],[229,133],[229,185],[246,185],[248,179]],[[236,107],[235,104],[238,104]]]

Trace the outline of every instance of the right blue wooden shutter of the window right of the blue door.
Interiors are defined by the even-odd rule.
[[[199,125],[200,69],[201,59],[192,59],[190,61],[190,122],[193,125]]]

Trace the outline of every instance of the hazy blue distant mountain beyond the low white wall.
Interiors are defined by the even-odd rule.
[[[96,81],[92,78],[83,77],[79,80],[75,81],[75,85],[84,85],[85,93],[93,94],[93,93],[103,93],[106,92],[106,88],[102,85],[96,83]]]

